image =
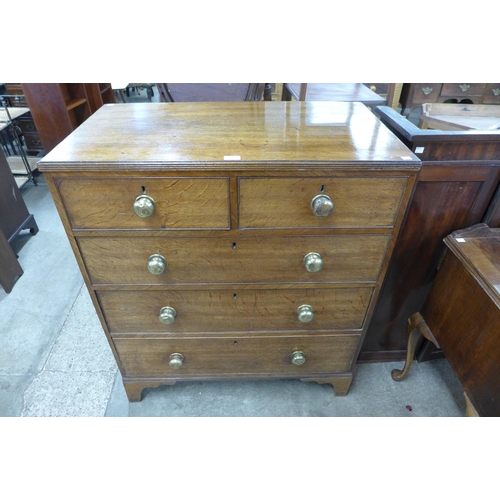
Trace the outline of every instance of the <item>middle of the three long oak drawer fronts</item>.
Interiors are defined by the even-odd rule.
[[[363,327],[373,288],[98,292],[111,332],[355,330]],[[308,305],[313,319],[302,322]],[[162,308],[175,310],[160,322]],[[172,318],[172,316],[170,316]]]

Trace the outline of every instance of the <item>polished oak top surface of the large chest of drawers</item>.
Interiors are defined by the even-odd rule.
[[[39,167],[57,170],[287,168],[419,160],[361,103],[108,104]]]

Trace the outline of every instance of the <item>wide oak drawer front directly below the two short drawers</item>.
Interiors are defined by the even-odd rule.
[[[93,284],[375,282],[389,235],[153,238],[79,237]],[[304,257],[318,253],[323,269],[309,272]],[[162,274],[149,258],[166,261]]]

